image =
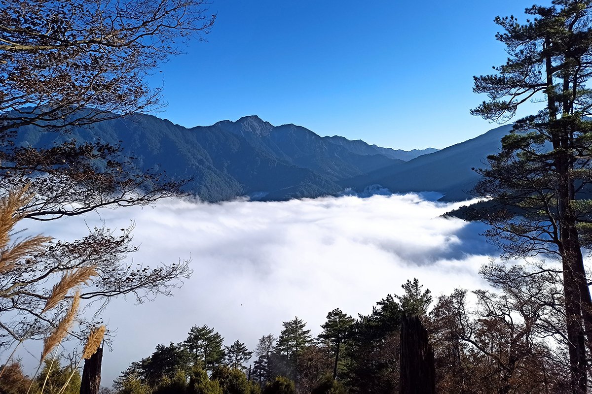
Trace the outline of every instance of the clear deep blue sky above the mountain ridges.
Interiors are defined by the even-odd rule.
[[[155,115],[186,127],[259,115],[322,136],[444,148],[497,126],[469,114],[486,98],[472,76],[506,60],[494,17],[524,20],[532,1],[211,0],[207,42],[157,73],[169,105]]]

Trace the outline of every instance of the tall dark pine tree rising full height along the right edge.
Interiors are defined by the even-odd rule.
[[[475,77],[474,91],[489,102],[472,110],[507,121],[531,98],[545,103],[537,115],[514,124],[502,149],[488,157],[489,169],[475,194],[491,209],[475,217],[491,225],[486,234],[506,257],[557,256],[562,262],[572,392],[587,391],[587,355],[592,349],[592,301],[581,246],[590,246],[592,181],[592,5],[589,0],[554,0],[534,5],[525,24],[496,18],[505,32],[506,64],[497,74]]]

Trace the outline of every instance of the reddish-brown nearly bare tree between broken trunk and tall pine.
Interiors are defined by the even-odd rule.
[[[481,274],[499,291],[457,289],[430,314],[439,392],[561,393],[570,372],[561,271],[492,263]]]

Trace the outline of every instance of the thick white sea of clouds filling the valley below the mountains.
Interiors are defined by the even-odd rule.
[[[28,232],[77,239],[104,222],[135,223],[140,251],[130,262],[192,259],[194,271],[174,297],[134,305],[118,299],[102,317],[115,332],[105,351],[106,385],[159,343],[179,342],[193,325],[207,324],[253,350],[259,337],[277,336],[298,316],[314,335],[327,312],[357,316],[401,284],[419,278],[435,296],[456,287],[484,288],[480,266],[497,250],[479,235],[480,223],[441,217],[466,203],[430,201],[429,194],[323,197],[283,202],[160,201],[154,207],[104,209]],[[34,345],[31,353],[38,354]],[[25,366],[35,364],[22,353]]]

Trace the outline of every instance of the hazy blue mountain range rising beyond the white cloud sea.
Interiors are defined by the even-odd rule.
[[[482,167],[511,126],[437,150],[382,148],[341,136],[321,137],[293,124],[273,126],[258,116],[185,128],[136,114],[77,128],[67,135],[32,126],[19,129],[17,144],[49,147],[69,139],[121,143],[143,170],[191,178],[188,191],[205,201],[238,196],[255,200],[334,195],[382,185],[393,192],[437,191],[465,200]]]

